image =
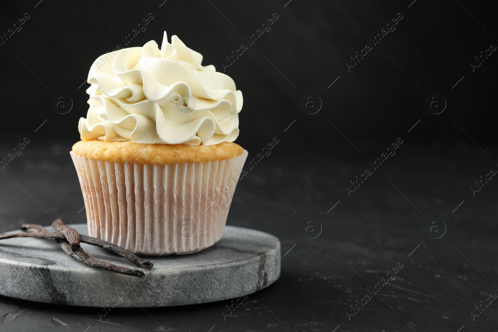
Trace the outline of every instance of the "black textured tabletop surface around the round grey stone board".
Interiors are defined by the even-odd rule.
[[[71,144],[30,144],[0,171],[0,231],[84,222]],[[496,150],[408,137],[375,168],[383,146],[279,146],[241,180],[228,221],[280,239],[275,284],[238,306],[116,308],[102,321],[95,308],[2,297],[0,330],[497,331]],[[491,180],[477,191],[481,176]]]

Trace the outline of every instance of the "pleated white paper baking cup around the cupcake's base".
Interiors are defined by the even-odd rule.
[[[70,154],[90,236],[142,255],[189,254],[220,240],[248,156],[142,165]]]

